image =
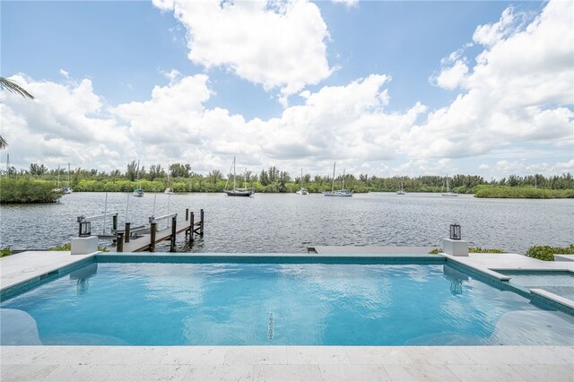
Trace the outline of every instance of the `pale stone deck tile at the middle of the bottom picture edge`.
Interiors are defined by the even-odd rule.
[[[320,382],[318,365],[255,365],[254,381]]]

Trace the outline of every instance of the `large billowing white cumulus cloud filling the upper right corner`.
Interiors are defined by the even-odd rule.
[[[552,1],[528,24],[509,8],[499,22],[477,27],[474,42],[484,50],[472,71],[457,51],[436,79],[465,92],[413,126],[405,152],[463,158],[513,143],[573,144],[572,13],[571,2]]]

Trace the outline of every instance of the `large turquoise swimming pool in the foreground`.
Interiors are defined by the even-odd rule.
[[[4,344],[574,344],[574,317],[438,256],[102,255],[0,308]]]

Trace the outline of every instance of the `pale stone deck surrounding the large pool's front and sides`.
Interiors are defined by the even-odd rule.
[[[24,252],[1,258],[0,287],[89,256]],[[494,271],[574,270],[572,263],[512,254],[456,260]],[[2,381],[571,382],[574,346],[0,346],[0,369]]]

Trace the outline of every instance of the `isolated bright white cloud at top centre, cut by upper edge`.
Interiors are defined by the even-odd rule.
[[[316,4],[303,1],[159,1],[187,28],[188,57],[207,69],[223,66],[280,100],[317,84],[333,69],[328,32]]]

